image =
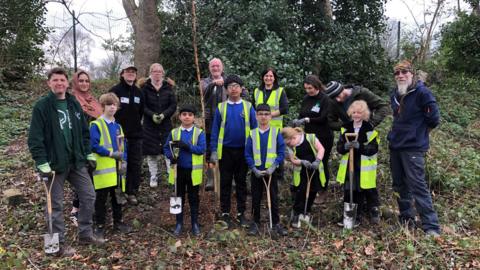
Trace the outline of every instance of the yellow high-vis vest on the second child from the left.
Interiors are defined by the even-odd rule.
[[[198,137],[202,133],[202,129],[193,127],[192,145],[197,145]],[[172,129],[172,140],[180,141],[182,134],[181,128]],[[172,153],[173,154],[173,153]],[[175,183],[175,172],[172,171],[172,166],[169,168],[168,183],[173,185]],[[203,155],[196,155],[192,153],[192,185],[198,186],[203,180]]]

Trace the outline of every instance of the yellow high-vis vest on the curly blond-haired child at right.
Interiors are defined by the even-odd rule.
[[[345,128],[341,129],[341,134],[345,133]],[[367,144],[373,140],[377,140],[378,132],[376,130],[367,132]],[[342,156],[340,165],[338,166],[337,182],[345,183],[345,177],[347,175],[349,153]],[[377,187],[377,154],[372,156],[360,155],[360,188],[371,189]]]

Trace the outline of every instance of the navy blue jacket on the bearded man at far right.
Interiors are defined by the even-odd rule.
[[[403,97],[394,89],[390,101],[393,111],[392,129],[388,133],[390,149],[426,152],[429,132],[440,122],[437,101],[430,89],[418,81]]]

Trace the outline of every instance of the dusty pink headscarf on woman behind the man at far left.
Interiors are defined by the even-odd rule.
[[[80,90],[78,77],[81,74],[87,75],[88,79],[90,80],[90,76],[83,70],[79,70],[75,74],[73,74],[72,78],[72,94],[77,98],[80,106],[82,106],[82,110],[87,115],[97,119],[102,115],[102,106],[98,103],[97,99],[92,95],[91,89],[87,91]]]

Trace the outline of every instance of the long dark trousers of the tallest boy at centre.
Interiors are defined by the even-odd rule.
[[[245,212],[247,200],[247,163],[245,148],[223,147],[220,160],[220,208],[222,213],[230,213],[232,182],[235,180],[237,213]]]

